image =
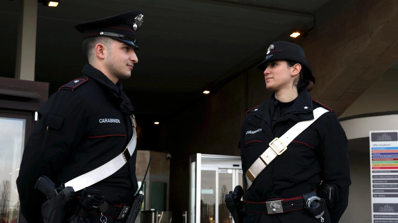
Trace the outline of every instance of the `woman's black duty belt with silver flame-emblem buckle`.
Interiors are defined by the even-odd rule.
[[[302,210],[306,205],[302,196],[287,199],[273,198],[265,202],[250,202],[246,200],[243,200],[243,202],[247,212],[259,214],[277,214]]]

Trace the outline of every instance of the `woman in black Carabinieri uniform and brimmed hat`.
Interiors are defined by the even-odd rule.
[[[311,98],[315,78],[300,46],[274,42],[258,69],[273,95],[249,110],[242,124],[244,222],[337,223],[351,180],[347,137],[336,113]],[[309,127],[287,133],[314,115],[319,118]],[[273,151],[264,155],[267,148]],[[270,153],[275,158],[269,160]]]

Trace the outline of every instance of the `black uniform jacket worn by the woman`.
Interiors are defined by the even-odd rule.
[[[272,96],[246,113],[240,138],[243,173],[268,148],[271,140],[281,137],[297,122],[313,119],[312,111],[323,106],[313,100],[306,90],[302,90],[293,105],[281,114],[271,129],[274,100]],[[269,198],[293,198],[315,190],[323,180],[323,183],[335,184],[339,189],[337,208],[326,210],[326,213],[330,213],[331,220],[327,219],[327,214],[324,215],[325,223],[337,223],[347,207],[351,184],[347,143],[336,114],[332,110],[324,113],[298,135],[283,154],[265,167],[246,192],[244,200],[265,202]],[[298,220],[300,215],[304,219]],[[276,219],[269,222],[320,221],[301,210],[279,215],[251,214],[245,222],[264,222],[272,217]]]

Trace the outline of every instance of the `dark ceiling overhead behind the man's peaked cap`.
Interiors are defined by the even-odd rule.
[[[254,65],[259,52],[293,28],[314,24],[328,0],[61,0],[38,5],[35,81],[50,94],[86,63],[73,25],[142,10],[139,63],[123,88],[136,112],[170,115]],[[14,77],[20,0],[0,2],[0,76]],[[253,56],[256,55],[256,56]],[[245,62],[245,63],[242,63]]]

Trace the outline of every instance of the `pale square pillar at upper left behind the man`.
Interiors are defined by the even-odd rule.
[[[21,0],[15,79],[35,81],[37,0]]]

